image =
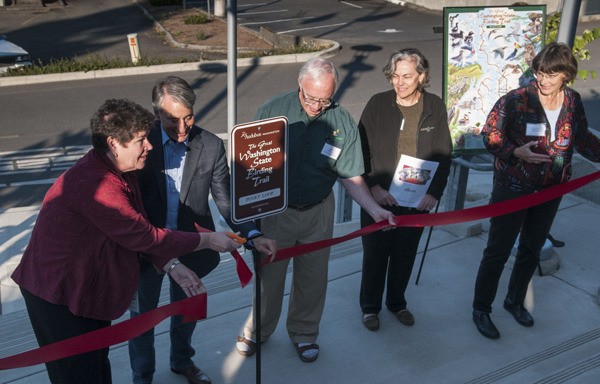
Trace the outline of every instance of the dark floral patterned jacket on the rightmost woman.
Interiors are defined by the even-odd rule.
[[[518,88],[502,96],[488,115],[483,142],[496,157],[494,182],[502,187],[531,193],[571,177],[573,150],[586,159],[600,162],[600,139],[588,130],[581,96],[565,88],[565,98],[551,140],[550,123],[534,85]],[[545,136],[527,136],[528,125],[543,124]],[[537,141],[533,151],[547,153],[552,163],[532,164],[513,155],[527,142]]]

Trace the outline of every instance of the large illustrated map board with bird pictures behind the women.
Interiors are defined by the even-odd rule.
[[[546,6],[444,8],[444,101],[455,154],[485,152],[481,129],[498,98],[530,83]]]

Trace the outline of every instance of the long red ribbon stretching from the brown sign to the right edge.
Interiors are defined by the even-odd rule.
[[[484,205],[481,207],[467,208],[459,211],[433,213],[429,215],[417,214],[395,216],[394,220],[396,222],[396,225],[399,227],[430,227],[437,225],[456,224],[465,221],[473,221],[484,219],[487,217],[505,215],[556,199],[562,195],[576,190],[577,188],[581,188],[584,185],[591,183],[592,181],[595,181],[599,178],[600,171],[591,173],[578,179],[571,180],[567,183],[558,184],[554,187],[547,188],[536,193],[531,193],[529,195],[525,195],[512,200],[502,201],[500,203]],[[359,236],[371,234],[388,226],[389,224],[387,223],[387,221],[380,221],[378,223],[374,223],[367,227],[361,228],[358,231],[349,233],[345,236],[334,237],[332,239],[321,240],[309,244],[300,244],[290,248],[283,248],[277,251],[277,254],[275,255],[275,258],[273,260],[270,260],[270,258],[264,258],[261,262],[261,266],[281,260],[291,259],[293,257],[304,255],[309,252],[314,252],[321,248],[331,247],[333,245],[354,239]]]

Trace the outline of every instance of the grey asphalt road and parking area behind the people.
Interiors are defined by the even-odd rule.
[[[66,49],[61,52],[109,56],[119,52],[128,57],[124,36],[136,31],[141,47],[146,47],[152,55],[180,54],[179,48],[164,45],[152,23],[136,7],[126,0],[72,0],[68,7],[54,4],[51,11],[40,10],[40,7],[8,11],[0,7],[0,33],[8,34],[19,45],[39,54]],[[260,4],[240,0],[238,12],[238,23],[248,28],[268,27],[276,33],[338,41],[342,49],[331,58],[340,72],[335,98],[356,119],[372,94],[389,88],[381,69],[396,49],[420,48],[431,63],[430,90],[442,94],[443,41],[441,34],[433,33],[433,27],[442,24],[440,13],[423,12],[384,0],[286,0]],[[579,31],[598,25],[599,22],[586,23],[579,26]],[[58,43],[50,44],[50,41]],[[31,49],[28,44],[35,44],[37,48]],[[600,56],[600,41],[591,43],[588,48],[592,57]],[[67,53],[60,55],[66,57]],[[251,121],[260,104],[294,87],[301,65],[239,67],[237,122]],[[585,67],[600,73],[600,60],[585,62]],[[0,152],[16,152],[33,159],[41,149],[81,150],[90,144],[89,118],[104,100],[126,97],[151,108],[152,84],[157,77],[167,74],[0,87]],[[227,131],[226,66],[199,66],[198,70],[172,74],[194,86],[198,95],[195,112],[199,124],[224,134]],[[578,81],[575,87],[584,98],[592,127],[600,126],[599,84],[598,79]],[[62,159],[61,156],[58,158]],[[53,159],[42,156],[25,164],[16,174],[2,172],[0,163],[0,209],[39,203],[47,188],[43,183],[48,184],[61,172],[61,164],[55,166]],[[38,184],[29,185],[31,181]]]

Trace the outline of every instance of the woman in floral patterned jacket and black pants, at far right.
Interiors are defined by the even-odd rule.
[[[600,140],[588,130],[581,97],[567,87],[577,75],[577,61],[570,48],[548,44],[533,59],[531,70],[536,81],[501,97],[482,131],[486,148],[495,156],[490,203],[567,182],[575,149],[585,158],[600,162]],[[473,321],[483,336],[500,337],[490,313],[504,264],[519,234],[504,308],[522,326],[533,326],[523,302],[560,200],[490,220],[473,299]]]

